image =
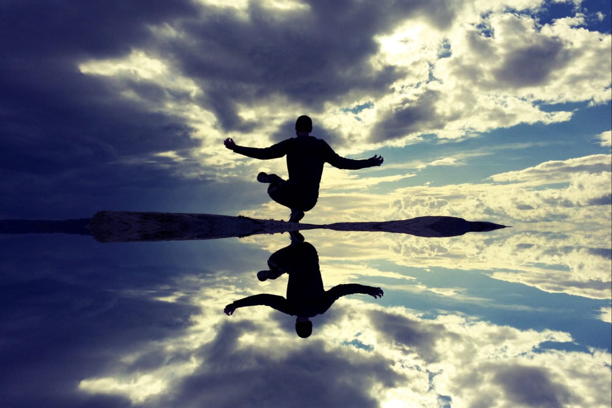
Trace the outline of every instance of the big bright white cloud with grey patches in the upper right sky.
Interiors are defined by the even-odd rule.
[[[395,95],[375,102],[381,124],[373,137],[381,141],[376,132],[386,132],[405,142],[423,133],[460,138],[572,116],[542,111],[542,102],[610,100],[610,35],[581,28],[580,14],[540,26],[528,14],[504,10],[537,10],[542,4],[466,2],[448,31],[420,30],[416,21],[403,32],[400,26],[384,40],[381,54],[387,59],[397,55],[394,63],[411,70],[395,84]],[[441,43],[449,55],[439,59]],[[420,79],[415,71],[422,73]]]

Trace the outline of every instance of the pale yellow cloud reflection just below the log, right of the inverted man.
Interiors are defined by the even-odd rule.
[[[610,255],[605,249],[584,247],[582,232],[576,234],[551,236],[547,232],[521,231],[515,227],[487,234],[431,239],[377,232],[313,231],[309,236],[325,237],[317,245],[319,256],[325,261],[343,262],[339,269],[345,272],[389,276],[389,271],[384,270],[368,273],[369,267],[361,265],[373,260],[424,270],[431,267],[481,270],[496,279],[523,283],[542,291],[610,299]],[[268,249],[276,242],[274,237],[246,240],[261,243]],[[602,243],[605,245],[605,240],[599,241],[599,245]]]

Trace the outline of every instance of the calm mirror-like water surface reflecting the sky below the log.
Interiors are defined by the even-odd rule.
[[[318,256],[287,265],[318,261],[326,290],[384,291],[342,295],[308,338],[269,306],[223,313],[286,296],[287,274],[256,273],[288,234],[0,236],[5,406],[610,406],[607,243],[521,227],[302,234]]]

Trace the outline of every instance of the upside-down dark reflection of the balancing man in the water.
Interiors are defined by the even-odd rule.
[[[356,293],[377,297],[383,296],[380,287],[358,283],[339,284],[329,291],[323,288],[319,257],[315,247],[304,242],[299,232],[290,232],[291,245],[273,253],[268,259],[269,270],[257,273],[260,281],[276,279],[283,273],[289,275],[287,297],[259,294],[236,300],[225,306],[225,314],[231,316],[237,308],[266,305],[283,313],[296,316],[296,333],[302,338],[312,333],[310,317],[323,314],[338,298]]]

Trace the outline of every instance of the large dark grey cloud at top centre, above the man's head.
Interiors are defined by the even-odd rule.
[[[181,25],[187,40],[160,46],[177,69],[198,78],[226,130],[244,124],[236,103],[281,94],[318,111],[348,92],[378,95],[401,75],[396,67],[375,71],[374,36],[392,31],[409,17],[427,15],[446,25],[453,11],[447,2],[310,1],[307,10],[271,15],[255,2],[249,18],[213,7]],[[433,17],[432,17],[433,16]]]

